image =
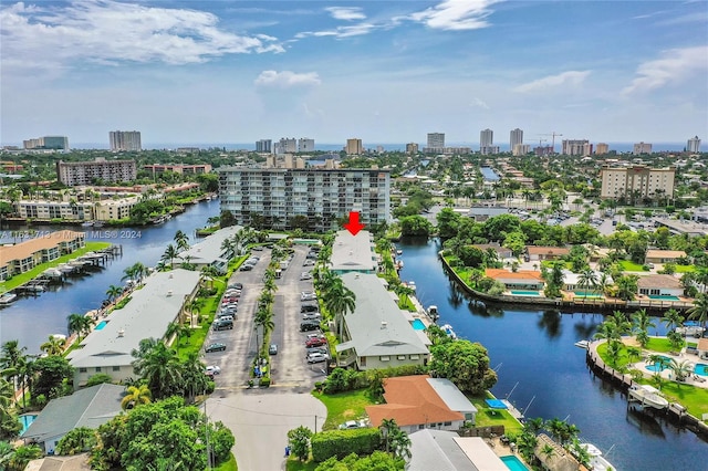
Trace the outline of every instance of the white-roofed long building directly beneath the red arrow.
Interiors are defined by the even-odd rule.
[[[332,244],[330,270],[336,274],[350,272],[376,273],[378,266],[373,236],[360,231],[356,236],[347,230],[339,231]]]

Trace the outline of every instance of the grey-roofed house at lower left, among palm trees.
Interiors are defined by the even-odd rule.
[[[21,438],[38,443],[48,453],[71,430],[97,429],[121,414],[124,396],[124,386],[102,384],[52,399]]]

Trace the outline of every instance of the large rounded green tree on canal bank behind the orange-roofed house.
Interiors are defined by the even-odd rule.
[[[434,345],[430,352],[431,374],[455,383],[462,393],[481,394],[497,384],[487,348],[479,343],[455,341]]]

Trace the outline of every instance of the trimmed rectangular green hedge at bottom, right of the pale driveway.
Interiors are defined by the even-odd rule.
[[[322,462],[332,457],[342,459],[350,453],[373,453],[381,448],[381,432],[377,428],[332,430],[313,435],[310,442],[312,459]]]

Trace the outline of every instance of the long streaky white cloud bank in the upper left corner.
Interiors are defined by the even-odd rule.
[[[64,8],[20,2],[0,10],[6,64],[187,64],[225,54],[284,52],[275,38],[239,35],[218,23],[209,12],[112,0],[75,0]]]

